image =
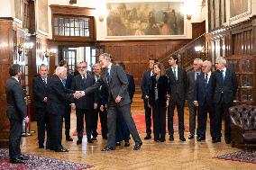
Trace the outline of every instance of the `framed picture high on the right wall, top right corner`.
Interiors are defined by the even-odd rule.
[[[238,20],[251,14],[251,0],[229,0],[230,21]]]

